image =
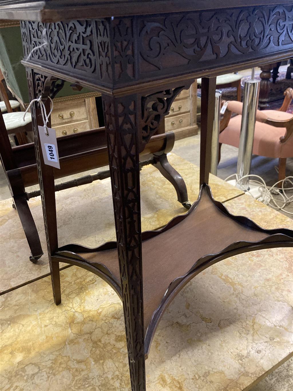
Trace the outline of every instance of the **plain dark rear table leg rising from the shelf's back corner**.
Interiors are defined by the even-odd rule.
[[[202,78],[202,110],[200,125],[200,180],[199,185],[209,183],[211,145],[214,122],[216,77]]]

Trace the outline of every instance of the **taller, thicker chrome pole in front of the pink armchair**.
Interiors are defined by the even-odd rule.
[[[242,120],[239,139],[237,174],[240,177],[250,174],[252,147],[254,139],[255,115],[258,104],[259,80],[252,79],[244,84]],[[249,190],[249,178],[241,179],[238,184],[241,190]]]

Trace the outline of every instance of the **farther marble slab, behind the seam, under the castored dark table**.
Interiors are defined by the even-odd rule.
[[[199,187],[198,167],[175,154],[169,154],[168,159],[186,181],[189,200],[195,201]],[[243,194],[215,176],[211,176],[211,188],[214,197],[222,202]],[[0,289],[2,292],[49,273],[40,197],[30,199],[29,206],[45,254],[35,264],[29,261],[29,246],[17,212],[12,208],[11,199],[1,201]],[[56,192],[56,208],[60,246],[77,242],[94,247],[115,240],[109,178]],[[174,216],[186,213],[186,209],[177,201],[171,183],[153,166],[143,167],[141,170],[141,210],[143,230],[159,228]],[[63,266],[64,264],[61,264],[61,267]]]

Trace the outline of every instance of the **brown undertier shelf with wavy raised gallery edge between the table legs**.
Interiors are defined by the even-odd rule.
[[[229,256],[272,247],[293,246],[293,231],[264,230],[247,217],[231,215],[215,201],[209,186],[185,215],[157,231],[142,234],[145,353],[164,310],[196,274]],[[62,259],[60,259],[62,258]],[[98,274],[121,297],[116,242],[96,249],[63,246],[54,260],[79,265]]]

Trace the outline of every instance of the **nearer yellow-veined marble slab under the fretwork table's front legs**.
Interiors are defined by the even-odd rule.
[[[264,228],[291,224],[246,195],[225,205]],[[200,273],[159,323],[147,390],[250,389],[292,353],[292,286],[292,248],[232,256]],[[0,297],[1,389],[129,390],[118,296],[75,266],[61,271],[61,290],[58,307],[50,277]]]

